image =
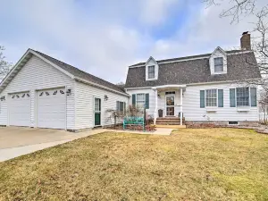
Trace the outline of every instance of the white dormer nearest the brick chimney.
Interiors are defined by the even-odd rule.
[[[212,75],[227,73],[227,54],[220,46],[209,57],[209,66]]]

